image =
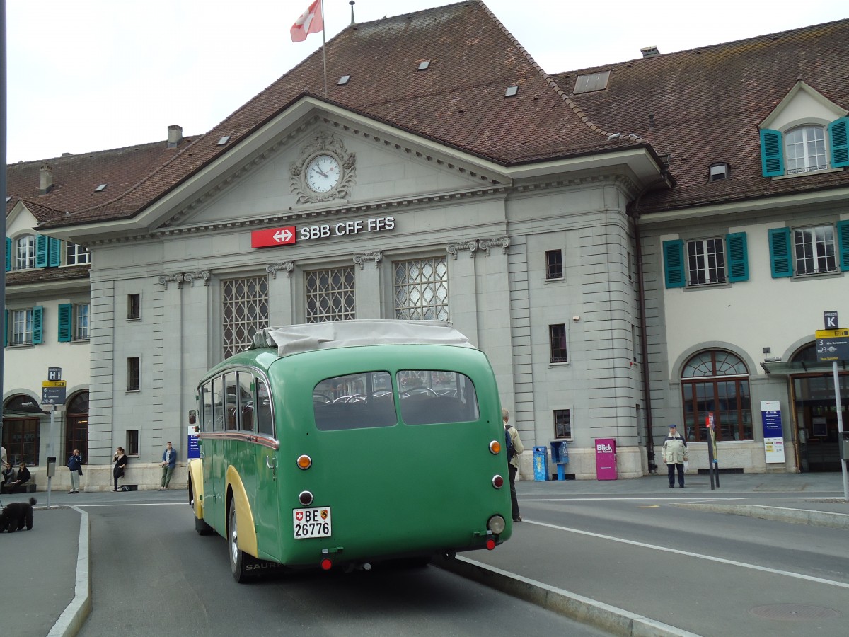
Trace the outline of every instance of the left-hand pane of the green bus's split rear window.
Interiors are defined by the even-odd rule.
[[[335,376],[312,390],[312,410],[321,431],[396,425],[391,375],[385,371]]]

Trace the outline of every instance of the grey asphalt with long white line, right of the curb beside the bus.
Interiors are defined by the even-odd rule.
[[[514,538],[469,557],[694,634],[846,634],[845,530],[691,510],[676,495],[523,499]]]

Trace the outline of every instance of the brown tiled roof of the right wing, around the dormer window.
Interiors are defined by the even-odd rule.
[[[758,132],[798,80],[849,109],[849,20],[554,78],[571,91],[578,75],[601,70],[610,70],[607,89],[577,94],[576,103],[600,125],[635,132],[670,155],[677,185],[644,197],[643,212],[849,186],[846,171],[762,177]],[[729,179],[708,181],[715,162],[728,163]]]

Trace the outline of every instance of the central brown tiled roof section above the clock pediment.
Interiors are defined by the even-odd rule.
[[[504,165],[609,151],[486,6],[465,2],[350,25],[327,42],[327,101]],[[427,70],[419,62],[430,59]],[[350,82],[338,86],[340,76]],[[518,86],[505,98],[507,87]],[[319,49],[137,188],[46,227],[132,217],[305,94],[323,96]],[[222,147],[217,142],[229,135]]]

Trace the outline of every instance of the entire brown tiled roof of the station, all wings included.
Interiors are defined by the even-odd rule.
[[[847,172],[761,176],[757,124],[802,79],[849,108],[849,20],[548,76],[485,5],[465,2],[351,25],[210,132],[8,167],[7,210],[20,198],[42,228],[132,217],[304,95],[504,166],[652,144],[676,186],[643,211],[846,185]],[[429,59],[427,70],[419,62]],[[571,96],[578,74],[610,70],[605,90]],[[340,76],[351,76],[337,85]],[[509,86],[515,97],[505,98]],[[649,127],[649,115],[654,127]],[[608,132],[622,132],[610,142]],[[628,133],[636,133],[628,140]],[[230,136],[228,144],[218,140]],[[709,182],[724,161],[730,178]],[[109,183],[95,193],[98,183]],[[70,211],[70,215],[65,214]]]

